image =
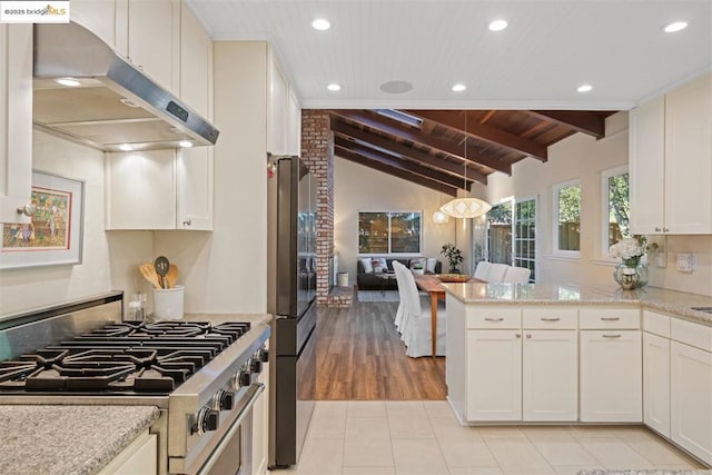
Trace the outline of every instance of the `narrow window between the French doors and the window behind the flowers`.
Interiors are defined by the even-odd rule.
[[[581,250],[581,182],[554,186],[554,253],[578,257]]]

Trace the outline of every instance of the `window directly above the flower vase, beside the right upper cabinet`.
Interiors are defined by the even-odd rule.
[[[603,254],[623,238],[631,237],[629,175],[626,167],[603,172]]]

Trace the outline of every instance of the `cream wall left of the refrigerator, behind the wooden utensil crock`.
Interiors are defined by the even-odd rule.
[[[267,308],[267,43],[214,46],[212,232],[160,231],[156,254],[179,267],[188,313]]]

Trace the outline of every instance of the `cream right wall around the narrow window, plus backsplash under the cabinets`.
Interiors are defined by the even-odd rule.
[[[487,187],[476,187],[473,195],[496,204],[515,196],[538,196],[538,268],[540,283],[613,284],[613,264],[606,263],[603,247],[602,171],[627,165],[627,113],[606,120],[606,137],[596,140],[575,133],[548,148],[548,161],[526,158],[513,166],[512,177],[490,176]],[[552,254],[552,187],[580,179],[582,186],[581,258],[562,259]],[[674,290],[712,295],[712,236],[668,236],[655,238],[668,248],[668,267],[653,265],[651,285]],[[676,253],[698,254],[699,269],[693,274],[675,270]]]

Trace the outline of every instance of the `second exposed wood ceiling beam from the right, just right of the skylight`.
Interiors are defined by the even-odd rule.
[[[507,132],[506,130],[481,123],[474,118],[467,120],[467,111],[456,113],[452,110],[405,110],[405,112],[422,119],[433,120],[497,147],[528,155],[542,161],[548,159],[548,152],[545,146]]]

